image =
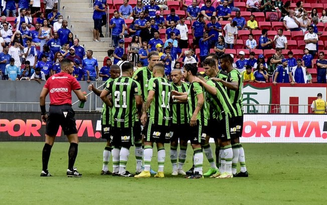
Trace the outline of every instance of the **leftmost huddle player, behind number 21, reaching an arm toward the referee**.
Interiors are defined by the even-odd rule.
[[[108,83],[120,76],[120,68],[118,65],[112,65],[110,67],[110,78],[104,83],[104,87]],[[92,90],[96,95],[100,96],[102,90],[94,87],[93,83],[89,85],[89,90]],[[112,151],[111,139],[110,139],[110,128],[111,128],[111,108],[103,102],[102,113],[101,113],[101,137],[107,140],[107,144],[103,150],[103,165],[101,175],[112,174],[108,169],[109,158]]]

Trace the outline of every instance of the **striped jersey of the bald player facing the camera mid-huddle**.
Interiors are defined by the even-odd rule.
[[[188,88],[189,88],[189,85],[186,82],[181,82],[181,85],[172,83],[172,90],[176,90],[178,92],[187,92]],[[171,109],[172,116],[173,116],[172,123],[177,124],[177,125],[188,124],[189,121],[188,121],[188,106],[187,106],[187,104],[176,103],[176,104],[173,104],[172,107],[173,107],[173,109]]]

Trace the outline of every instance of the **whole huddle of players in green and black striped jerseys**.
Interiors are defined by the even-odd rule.
[[[185,65],[183,73],[180,69],[174,69],[171,73],[173,83],[164,77],[165,67],[159,64],[159,59],[156,52],[150,52],[149,65],[135,73],[130,63],[124,63],[121,77],[118,77],[119,67],[113,65],[110,70],[111,78],[106,81],[104,90],[89,86],[104,102],[102,137],[107,139],[107,146],[103,152],[101,174],[111,174],[108,171],[111,151],[112,175],[134,176],[126,171],[129,148],[134,144],[134,177],[150,177],[155,142],[158,172],[154,177],[165,176],[165,143],[171,143],[172,175],[182,174],[187,178],[247,177],[244,150],[239,143],[243,128],[243,82],[241,73],[232,66],[233,58],[230,55],[220,57],[221,67],[226,73],[218,69],[218,57],[209,55],[203,62],[207,75],[205,78],[197,76],[198,68],[193,64]],[[182,75],[190,84],[181,81]],[[143,126],[142,131],[140,125]],[[210,137],[216,142],[216,161],[219,168],[213,158]],[[183,165],[188,140],[194,151],[194,169],[186,174]],[[211,165],[206,173],[202,169],[203,151]],[[237,174],[238,161],[241,171]]]

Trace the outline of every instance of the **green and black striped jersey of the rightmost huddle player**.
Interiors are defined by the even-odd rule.
[[[228,73],[227,82],[238,82],[238,90],[227,88],[227,94],[231,100],[237,116],[243,116],[243,78],[240,71],[233,69]]]

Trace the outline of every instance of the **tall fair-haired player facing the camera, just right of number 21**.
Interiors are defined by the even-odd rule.
[[[148,81],[152,77],[153,66],[159,62],[160,57],[156,51],[151,51],[149,52],[147,59],[149,64],[147,66],[137,69],[133,76],[133,79],[136,80],[141,86],[143,102],[145,102],[147,99]],[[141,124],[138,123],[137,125],[136,123],[135,127],[137,126],[140,128]],[[142,134],[145,133],[146,133],[146,126],[143,128]],[[142,171],[142,157],[143,157],[142,138],[140,137],[139,139],[137,139],[135,136],[134,144],[135,144],[136,174],[137,174]]]

